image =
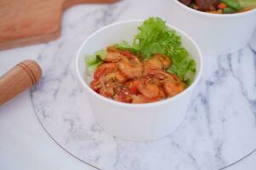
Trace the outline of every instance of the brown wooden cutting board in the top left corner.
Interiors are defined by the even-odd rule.
[[[0,0],[0,49],[48,42],[60,36],[61,15],[79,3],[117,0]]]

